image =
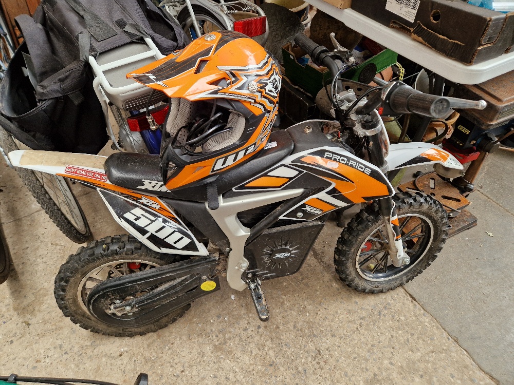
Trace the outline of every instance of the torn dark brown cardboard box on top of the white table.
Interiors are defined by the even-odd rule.
[[[501,56],[514,44],[514,12],[460,0],[358,0],[352,9],[466,64]]]

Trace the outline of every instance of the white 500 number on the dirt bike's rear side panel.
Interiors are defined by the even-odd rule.
[[[146,234],[145,237],[153,234],[178,249],[185,247],[191,242],[191,239],[177,232],[176,227],[172,228],[167,223],[163,223],[162,218],[157,219],[145,213],[145,211],[139,207],[128,211],[128,213],[123,214],[123,216],[148,231],[149,233]]]

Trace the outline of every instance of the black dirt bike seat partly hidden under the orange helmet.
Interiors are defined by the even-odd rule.
[[[271,133],[268,145],[274,144],[274,142],[276,142],[276,146],[261,150],[255,158],[251,158],[243,165],[233,167],[219,176],[216,179],[218,194],[223,194],[223,192],[277,164],[293,150],[292,139],[284,130]],[[109,182],[120,187],[174,199],[207,201],[206,188],[198,185],[186,186],[172,191],[160,191],[159,189],[162,188],[163,183],[158,155],[117,152],[107,158],[104,168]]]

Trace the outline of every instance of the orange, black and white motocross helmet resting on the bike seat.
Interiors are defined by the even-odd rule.
[[[206,34],[127,74],[170,98],[161,143],[168,189],[208,183],[264,148],[277,115],[277,63],[234,31]]]

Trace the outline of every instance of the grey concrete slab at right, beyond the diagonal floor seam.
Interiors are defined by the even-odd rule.
[[[478,225],[450,238],[407,291],[502,384],[514,384],[514,153],[486,161],[469,198]],[[492,235],[489,236],[487,233]]]

